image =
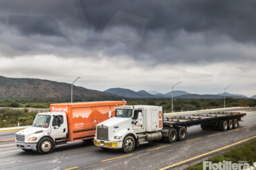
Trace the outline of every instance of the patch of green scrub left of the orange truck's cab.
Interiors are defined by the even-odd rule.
[[[0,109],[0,127],[17,127],[32,125],[37,111],[28,109]]]

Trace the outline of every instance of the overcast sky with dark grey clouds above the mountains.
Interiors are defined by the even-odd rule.
[[[0,75],[256,94],[256,1],[0,0]]]

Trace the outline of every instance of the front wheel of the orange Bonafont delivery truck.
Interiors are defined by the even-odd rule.
[[[54,148],[54,142],[51,138],[42,138],[41,140],[39,140],[38,144],[37,144],[37,151],[40,154],[47,154],[47,153],[51,153],[51,151],[53,151]]]

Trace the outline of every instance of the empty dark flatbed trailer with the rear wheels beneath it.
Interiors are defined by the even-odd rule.
[[[241,117],[246,114],[239,112],[218,112],[210,114],[193,114],[192,116],[166,116],[163,118],[163,139],[166,142],[185,140],[187,128],[194,125],[201,125],[204,130],[214,129],[227,131],[239,126]]]

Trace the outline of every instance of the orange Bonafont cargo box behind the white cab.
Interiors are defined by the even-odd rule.
[[[96,125],[109,119],[109,111],[115,116],[115,107],[120,105],[123,105],[123,101],[58,103],[51,104],[51,111],[66,112],[68,139],[77,141],[94,138]]]

